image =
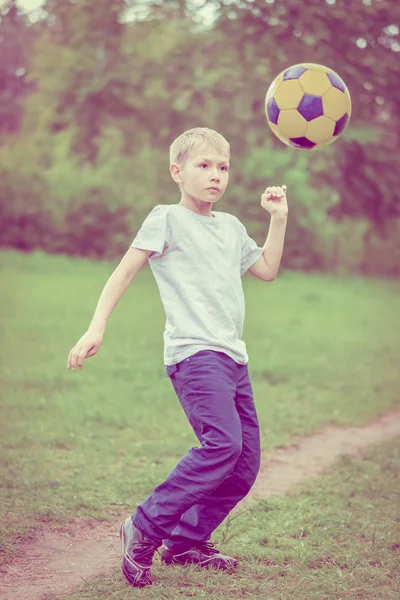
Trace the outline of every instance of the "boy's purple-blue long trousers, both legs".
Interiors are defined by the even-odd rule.
[[[247,365],[202,350],[167,366],[201,446],[193,447],[138,506],[145,536],[183,550],[208,540],[244,498],[260,468],[260,430]]]

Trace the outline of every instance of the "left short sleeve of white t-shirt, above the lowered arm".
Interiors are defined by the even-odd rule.
[[[151,250],[156,255],[162,256],[168,245],[168,206],[159,204],[143,221],[131,248]]]

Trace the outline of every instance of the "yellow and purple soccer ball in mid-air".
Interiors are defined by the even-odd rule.
[[[351,98],[335,71],[313,63],[285,69],[271,83],[265,112],[273,133],[288,146],[311,150],[331,144],[351,116]]]

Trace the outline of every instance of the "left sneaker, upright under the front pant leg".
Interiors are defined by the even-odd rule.
[[[151,585],[150,567],[158,546],[153,544],[128,517],[119,531],[121,538],[121,568],[125,578],[135,587]]]

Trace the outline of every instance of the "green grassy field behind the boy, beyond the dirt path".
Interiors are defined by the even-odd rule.
[[[133,511],[197,444],[163,376],[165,316],[149,268],[111,316],[99,355],[83,371],[66,368],[114,266],[0,254],[4,561],[44,522]],[[244,339],[265,449],[399,405],[399,282],[286,272],[268,284],[246,275],[244,288]],[[334,510],[330,493],[326,510]],[[291,519],[296,502],[285,504]]]

